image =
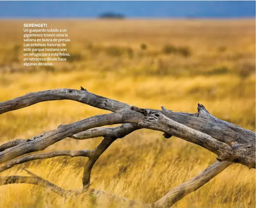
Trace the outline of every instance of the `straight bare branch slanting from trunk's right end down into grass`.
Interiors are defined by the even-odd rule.
[[[209,167],[207,167],[203,172],[199,173],[196,177],[193,177],[183,184],[180,184],[174,187],[171,191],[169,191],[163,198],[157,200],[152,207],[153,208],[169,208],[177,201],[180,201],[187,194],[196,191],[204,184],[209,182],[213,177],[217,176],[220,172],[230,166],[232,162],[224,161],[219,162],[216,161]]]

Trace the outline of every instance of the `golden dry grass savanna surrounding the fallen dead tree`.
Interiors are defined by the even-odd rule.
[[[68,62],[23,66],[23,24],[0,20],[0,101],[29,92],[80,89],[135,105],[196,113],[203,104],[214,116],[255,131],[254,20],[36,20],[65,28]],[[0,115],[0,144],[108,111],[75,101],[48,101]],[[102,138],[66,138],[46,148],[93,149]],[[216,155],[161,132],[139,130],[117,139],[92,169],[92,187],[153,203],[203,171]],[[66,189],[82,187],[87,158],[67,156],[14,166],[1,176],[27,175],[20,167]],[[255,170],[232,164],[175,208],[255,207]],[[29,184],[0,187],[3,208],[113,207],[111,201],[64,200]],[[117,205],[118,207],[118,205]]]

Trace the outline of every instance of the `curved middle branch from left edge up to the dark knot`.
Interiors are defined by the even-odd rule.
[[[143,117],[142,114],[135,111],[125,110],[117,113],[96,115],[68,125],[60,125],[57,129],[44,133],[43,136],[37,136],[37,139],[32,138],[29,142],[21,143],[0,152],[0,163],[7,162],[26,153],[43,150],[61,139],[90,128],[121,123],[136,123],[136,119],[142,121]]]

